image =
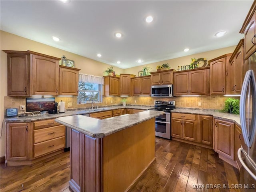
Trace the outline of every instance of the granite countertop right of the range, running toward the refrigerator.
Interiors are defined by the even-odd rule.
[[[176,108],[176,109],[172,110],[171,112],[172,113],[176,112],[176,113],[199,114],[199,115],[212,115],[213,118],[234,122],[238,126],[241,126],[240,116],[235,115],[235,114],[215,112],[215,111],[211,111],[211,110],[193,110],[193,109],[184,109],[184,108],[182,108],[182,109]]]

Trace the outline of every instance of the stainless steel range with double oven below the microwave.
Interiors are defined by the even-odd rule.
[[[175,101],[154,101],[155,107],[149,110],[164,111],[156,117],[156,136],[171,139],[171,110],[175,109]]]

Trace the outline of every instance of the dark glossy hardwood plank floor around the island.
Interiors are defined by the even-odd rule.
[[[0,191],[71,191],[69,154],[65,152],[30,166],[1,164]],[[228,185],[238,184],[238,178],[239,171],[219,159],[214,150],[156,137],[156,161],[130,192],[233,192],[239,189],[228,189]]]

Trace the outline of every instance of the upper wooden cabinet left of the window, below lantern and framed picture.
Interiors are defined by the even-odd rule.
[[[78,72],[80,69],[60,66],[60,95],[78,95]]]

